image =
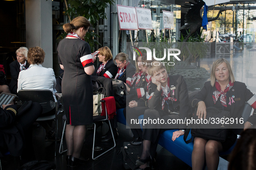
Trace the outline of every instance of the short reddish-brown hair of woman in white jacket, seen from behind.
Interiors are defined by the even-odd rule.
[[[42,64],[45,59],[45,51],[41,47],[31,47],[28,51],[29,64]]]

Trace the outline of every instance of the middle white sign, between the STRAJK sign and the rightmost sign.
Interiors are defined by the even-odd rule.
[[[138,20],[139,29],[153,29],[151,10],[145,8],[135,7]]]

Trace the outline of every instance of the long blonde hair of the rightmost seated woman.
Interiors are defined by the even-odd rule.
[[[214,62],[214,64],[212,65],[211,78],[210,78],[211,79],[211,86],[212,87],[214,86],[214,84],[216,82],[215,70],[216,70],[217,66],[220,66],[220,64],[223,63],[223,62],[227,64],[227,69],[229,71],[229,80],[231,80],[231,83],[235,82],[235,77],[233,75],[230,63],[226,59],[220,58],[220,59],[216,60]]]

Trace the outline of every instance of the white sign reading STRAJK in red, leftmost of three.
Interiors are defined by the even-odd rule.
[[[120,30],[138,30],[136,9],[130,6],[117,5]]]

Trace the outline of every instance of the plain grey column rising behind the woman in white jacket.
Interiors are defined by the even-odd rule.
[[[52,68],[52,0],[26,0],[26,47],[45,51],[42,66]]]

